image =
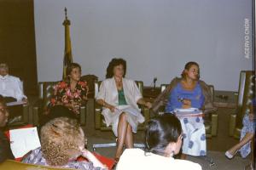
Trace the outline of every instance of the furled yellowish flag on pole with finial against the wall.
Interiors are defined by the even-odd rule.
[[[70,20],[67,19],[67,8],[65,8],[65,20],[63,22],[63,26],[65,27],[65,51],[64,51],[64,59],[63,59],[63,74],[62,78],[67,77],[67,66],[73,62],[72,51],[71,51],[71,39],[70,39]]]

